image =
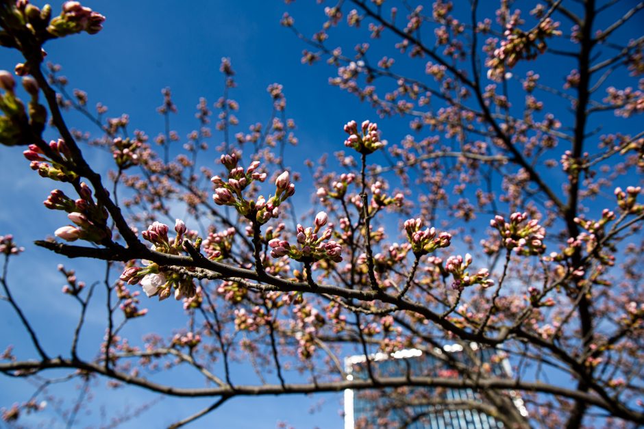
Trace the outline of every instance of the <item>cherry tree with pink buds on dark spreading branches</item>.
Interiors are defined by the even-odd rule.
[[[397,424],[395,410],[423,421],[419,404],[476,409],[512,428],[644,424],[644,37],[631,38],[644,3],[327,3],[311,37],[297,16],[285,13],[282,25],[307,45],[302,62],[330,64],[330,84],[369,103],[382,129],[347,118],[335,157],[297,172],[284,164],[298,141],[281,85],[268,88],[268,124],[233,135],[236,82],[223,59],[221,144],[212,146],[206,99],[187,139],[171,131],[167,88],[158,107],[166,130],[128,133],[127,115],[88,107],[42,49],[95,34],[105,18],[77,1],[60,14],[0,1],[0,44],[24,57],[0,72],[0,143],[25,146],[25,170],[51,181],[43,212],[69,219],[36,244],[73,259],[67,265],[106,268],[92,283],[59,266],[79,320],[69,353],[53,356],[11,293],[19,281],[10,262],[28,252],[0,237],[4,305],[36,350],[18,359],[3,345],[0,372],[38,389],[5,407],[5,421],[37,412],[39,392],[58,382],[48,374],[63,370],[65,381],[212,398],[173,427],[252,400],[238,397],[344,389],[386,391],[374,411],[382,427]],[[346,31],[360,42],[334,38]],[[71,109],[94,128],[71,129]],[[408,135],[388,132],[397,117],[408,118]],[[108,172],[90,165],[88,146],[112,159]],[[313,209],[297,207],[296,192],[314,194]],[[78,343],[101,288],[106,336],[92,355]],[[185,325],[123,335],[157,305],[182,306]],[[447,344],[461,354],[445,353]],[[372,362],[412,348],[447,370],[391,376]],[[367,356],[364,377],[347,377],[349,354]],[[495,371],[501,361],[512,372]],[[257,382],[236,381],[240,362]],[[167,383],[160,369],[174,367],[203,385]],[[445,399],[449,388],[479,399]]]

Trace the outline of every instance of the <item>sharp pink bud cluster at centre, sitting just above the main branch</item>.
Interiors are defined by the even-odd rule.
[[[286,240],[274,238],[269,241],[271,247],[271,256],[280,258],[288,256],[290,259],[300,261],[302,259],[320,260],[330,259],[334,262],[342,261],[342,246],[329,240],[333,233],[332,228],[328,228],[318,235],[321,227],[327,223],[327,213],[321,211],[315,216],[314,227],[304,228],[297,225],[297,245],[291,245]],[[325,240],[329,240],[325,242]]]

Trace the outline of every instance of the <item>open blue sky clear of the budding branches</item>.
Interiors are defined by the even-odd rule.
[[[60,10],[60,3],[53,2],[55,11]],[[327,85],[327,78],[334,74],[332,68],[301,64],[304,44],[291,31],[281,27],[279,21],[288,10],[295,16],[297,27],[311,33],[323,18],[321,9],[312,7],[311,3],[297,1],[286,6],[277,0],[84,1],[84,5],[106,15],[103,31],[95,36],[83,34],[55,40],[45,48],[48,60],[62,65],[61,74],[69,78],[69,89],[88,92],[88,105],[100,101],[109,107],[108,116],[129,114],[131,129],[143,129],[151,137],[163,129],[163,120],[156,113],[156,107],[162,101],[160,90],[171,87],[173,101],[179,109],[179,114],[172,116],[172,128],[184,138],[188,131],[197,127],[193,114],[199,97],[205,96],[212,108],[212,103],[221,95],[223,79],[219,63],[221,57],[230,57],[238,84],[231,97],[240,103],[241,126],[237,131],[246,131],[247,125],[263,124],[269,119],[271,101],[266,88],[273,82],[282,83],[288,101],[287,116],[295,119],[300,141],[297,150],[286,154],[286,165],[305,172],[304,159],[316,159],[324,152],[343,150],[345,122],[377,119],[369,106]],[[336,31],[336,34],[355,37],[354,33],[345,30]],[[0,50],[0,68],[11,70],[18,60],[16,53]],[[551,78],[554,79],[545,76],[545,79]],[[570,114],[564,107],[557,113]],[[77,114],[72,113],[69,118],[71,125],[95,131]],[[390,142],[398,142],[409,132],[405,127],[407,123],[408,119],[393,118],[381,122],[381,129],[390,132],[386,135]],[[606,125],[620,126],[619,122]],[[211,148],[219,139],[221,135],[215,133],[210,141]],[[102,270],[102,265],[66,261],[33,246],[35,239],[51,235],[66,220],[60,213],[47,211],[42,206],[42,200],[55,185],[29,170],[21,151],[22,148],[3,147],[0,155],[0,201],[3,202],[0,204],[0,235],[13,233],[18,244],[27,249],[12,263],[10,281],[14,295],[34,320],[36,328],[46,333],[42,340],[47,350],[58,350],[61,343],[69,343],[77,308],[60,293],[63,278],[55,271],[55,266],[65,263],[90,283],[96,278],[93,273]],[[102,153],[88,151],[88,154],[95,164],[108,165]],[[312,187],[307,189],[305,185],[299,190],[302,201],[308,201],[308,196],[314,192]],[[179,306],[168,305],[169,302],[163,304],[146,305],[151,312],[146,317],[146,323],[150,325],[135,324],[139,330],[131,330],[128,335],[133,339],[140,337],[160,320],[182,323]],[[18,320],[6,310],[5,304],[1,305],[3,335],[0,348],[14,343],[18,356],[33,356]],[[104,321],[98,305],[95,310],[88,316],[85,350],[96,350],[97,339],[103,333]],[[167,377],[179,382],[191,381],[183,375],[169,374]],[[198,383],[196,378],[192,381]],[[0,407],[26,400],[32,390],[23,382],[0,378]],[[108,415],[128,404],[136,407],[156,398],[140,389],[98,391],[100,397],[94,402],[108,404]],[[73,386],[61,392],[69,398],[77,394]],[[325,406],[322,411],[310,415],[308,409],[320,398],[325,400]],[[216,424],[222,428],[274,428],[276,421],[282,420],[297,428],[336,428],[341,422],[338,416],[340,399],[341,395],[331,394],[312,399],[297,396],[239,398],[192,427]],[[209,403],[208,400],[166,398],[147,411],[140,421],[145,421],[148,427],[166,425]],[[81,424],[95,424],[96,419],[97,413],[79,417]],[[123,427],[140,427],[140,421]]]

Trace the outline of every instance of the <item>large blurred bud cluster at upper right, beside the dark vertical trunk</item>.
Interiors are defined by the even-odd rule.
[[[561,35],[561,31],[557,29],[559,23],[553,21],[552,18],[541,20],[530,31],[517,28],[518,24],[519,16],[512,16],[506,25],[505,39],[501,41],[501,46],[495,49],[486,61],[486,66],[489,67],[488,79],[500,81],[506,67],[514,67],[519,60],[533,60],[538,53],[545,51],[546,38]]]

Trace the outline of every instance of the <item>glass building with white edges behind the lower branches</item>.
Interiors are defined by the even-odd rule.
[[[480,362],[489,365],[491,375],[510,376],[507,359],[493,363],[493,349],[478,349]],[[467,354],[462,353],[459,344],[448,345],[436,354],[448,353],[465,365],[473,365]],[[370,356],[371,372],[377,377],[427,376],[458,377],[458,372],[432,354],[421,350],[399,350],[393,354],[377,353]],[[369,378],[367,359],[364,355],[349,356],[345,359],[347,380]],[[521,415],[527,415],[519,395],[512,394],[513,402]],[[443,401],[460,402],[463,406],[446,408],[438,405]],[[404,387],[345,390],[345,429],[354,428],[410,428],[410,429],[496,429],[503,428],[501,421],[472,409],[465,402],[483,402],[472,389],[451,389],[444,387]]]

